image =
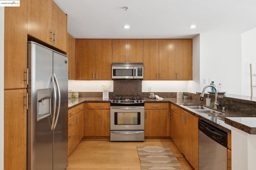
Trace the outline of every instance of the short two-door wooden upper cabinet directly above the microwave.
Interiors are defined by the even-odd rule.
[[[113,41],[113,63],[142,63],[143,62],[143,40],[114,39]]]

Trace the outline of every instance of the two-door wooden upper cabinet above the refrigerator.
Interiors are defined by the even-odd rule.
[[[66,14],[52,0],[28,0],[28,35],[66,52]]]

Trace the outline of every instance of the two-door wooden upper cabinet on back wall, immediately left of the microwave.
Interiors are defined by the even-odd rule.
[[[76,39],[76,80],[111,80],[112,40]]]

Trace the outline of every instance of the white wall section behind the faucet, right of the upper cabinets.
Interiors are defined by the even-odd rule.
[[[222,91],[242,94],[241,34],[237,32],[207,32],[200,34],[200,89],[203,79],[222,83]],[[206,89],[206,91],[210,90]]]

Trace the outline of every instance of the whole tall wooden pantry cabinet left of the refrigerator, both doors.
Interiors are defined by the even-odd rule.
[[[5,170],[26,170],[27,5],[4,8]]]

